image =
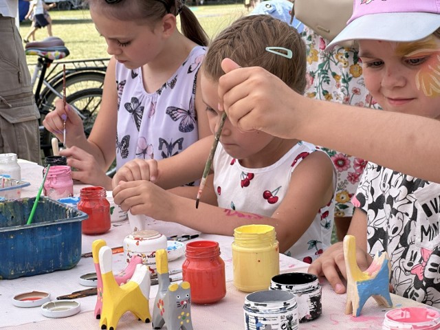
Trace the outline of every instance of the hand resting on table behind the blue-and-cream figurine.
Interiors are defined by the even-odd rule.
[[[371,265],[373,259],[360,248],[356,248],[356,261],[360,270],[364,271]],[[343,243],[331,245],[316,261],[311,263],[308,272],[317,276],[325,276],[337,294],[344,294],[346,289],[340,278],[340,274],[347,278]]]

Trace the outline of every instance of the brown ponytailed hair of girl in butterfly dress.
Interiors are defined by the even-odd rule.
[[[198,45],[208,45],[208,36],[197,17],[185,5],[185,0],[120,0],[107,3],[104,0],[87,0],[91,7],[100,6],[106,16],[120,21],[155,23],[166,14],[180,14],[180,27],[184,36]]]

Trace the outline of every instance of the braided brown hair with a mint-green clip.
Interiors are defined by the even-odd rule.
[[[292,58],[267,52],[266,47],[292,50]],[[206,76],[214,81],[223,76],[221,61],[226,57],[241,67],[263,67],[294,91],[304,93],[305,44],[296,29],[279,19],[264,14],[250,15],[237,19],[225,28],[212,41],[203,60]]]

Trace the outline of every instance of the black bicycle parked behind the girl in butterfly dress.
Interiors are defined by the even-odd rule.
[[[25,54],[38,56],[31,84],[41,115],[39,129],[44,160],[44,157],[52,155],[53,135],[43,126],[43,119],[47,113],[55,109],[56,98],[63,98],[63,65],[66,76],[66,102],[83,119],[85,135],[88,137],[101,104],[102,85],[109,58],[58,61],[70,54],[63,40],[58,37],[26,44]],[[114,172],[113,166],[107,175]]]

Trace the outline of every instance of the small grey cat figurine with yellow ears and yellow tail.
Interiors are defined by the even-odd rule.
[[[192,330],[190,283],[170,285],[168,258],[164,249],[156,251],[156,267],[159,289],[153,307],[153,329],[166,325],[168,330]]]

